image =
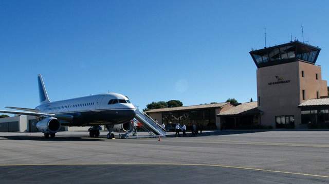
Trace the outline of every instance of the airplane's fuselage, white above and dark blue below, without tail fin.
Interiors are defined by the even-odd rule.
[[[118,93],[52,101],[35,109],[39,113],[72,115],[74,118],[70,122],[61,121],[64,126],[116,125],[128,122],[136,115],[130,100]]]

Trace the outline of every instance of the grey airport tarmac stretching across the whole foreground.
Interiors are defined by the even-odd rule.
[[[0,133],[1,183],[329,183],[329,131]],[[190,134],[188,134],[190,135]]]

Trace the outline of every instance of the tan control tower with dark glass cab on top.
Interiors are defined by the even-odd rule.
[[[273,128],[305,128],[298,105],[327,96],[327,82],[316,66],[320,48],[298,41],[253,50],[257,66],[258,109],[261,124]]]

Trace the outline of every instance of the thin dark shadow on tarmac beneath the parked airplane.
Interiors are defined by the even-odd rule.
[[[0,136],[0,142],[2,140],[39,140],[39,141],[104,141],[106,137],[91,138],[87,136],[82,137],[61,137],[45,138],[42,136]]]

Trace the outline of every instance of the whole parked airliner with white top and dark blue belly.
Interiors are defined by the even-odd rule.
[[[55,137],[61,126],[91,126],[90,137],[98,137],[100,125],[105,125],[107,138],[114,138],[115,132],[128,132],[132,128],[131,120],[136,108],[127,96],[118,93],[106,93],[50,101],[43,78],[38,74],[40,105],[34,109],[6,107],[22,111],[0,110],[2,113],[30,115],[38,119],[36,128],[45,138]]]

